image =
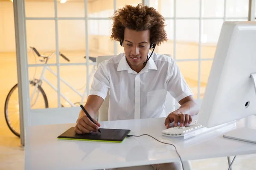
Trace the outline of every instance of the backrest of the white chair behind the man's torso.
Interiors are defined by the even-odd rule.
[[[171,57],[169,54],[165,54],[166,56]],[[113,56],[99,56],[96,59],[96,65],[98,67],[99,63],[101,63],[104,60],[108,60]],[[102,103],[101,107],[99,108],[99,113],[98,113],[98,121],[108,121],[108,106],[109,106],[109,91],[108,94]],[[175,99],[171,96],[170,93],[166,94],[166,116],[169,115],[169,113],[175,111]]]

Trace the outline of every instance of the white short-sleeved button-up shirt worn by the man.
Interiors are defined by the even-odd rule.
[[[166,117],[167,91],[177,101],[193,95],[175,60],[156,53],[140,73],[130,68],[124,53],[101,62],[89,95],[105,99],[108,90],[108,120]]]

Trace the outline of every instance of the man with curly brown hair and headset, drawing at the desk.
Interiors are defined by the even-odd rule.
[[[164,18],[154,8],[125,6],[115,11],[111,38],[120,42],[124,53],[99,64],[84,108],[94,116],[110,91],[109,120],[166,117],[167,91],[181,107],[170,113],[165,122],[169,128],[186,126],[198,114],[192,91],[170,57],[149,50],[167,40]],[[96,121],[95,121],[96,122]],[[76,133],[99,129],[83,111],[79,113]],[[155,170],[176,170],[179,163],[152,165]]]

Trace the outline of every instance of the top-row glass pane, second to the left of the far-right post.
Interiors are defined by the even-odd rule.
[[[202,17],[224,17],[224,0],[202,0]]]

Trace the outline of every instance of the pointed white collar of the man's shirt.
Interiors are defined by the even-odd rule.
[[[154,55],[154,54],[152,54]],[[148,54],[148,57],[150,55]],[[143,70],[145,69],[145,71],[148,70],[157,70],[157,65],[154,62],[154,59],[152,59],[152,56],[150,57],[150,59],[148,59],[147,64],[145,65],[145,67],[143,68]],[[131,67],[128,65],[128,62],[126,61],[126,57],[125,54],[122,56],[122,59],[120,60],[118,66],[117,66],[117,71],[124,71],[127,70],[129,73],[132,73],[133,70],[131,69]],[[142,70],[142,71],[143,71]],[[143,71],[144,72],[144,71]]]

